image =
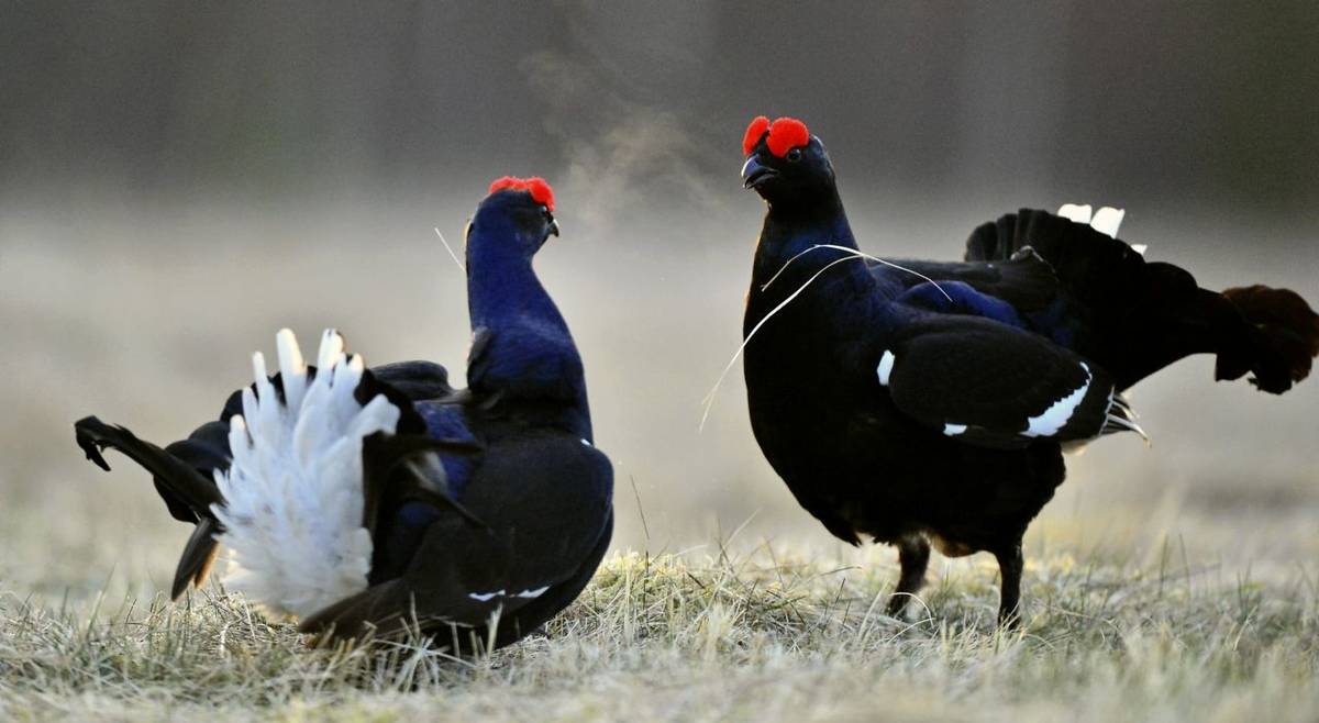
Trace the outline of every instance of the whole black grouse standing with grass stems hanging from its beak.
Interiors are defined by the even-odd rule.
[[[743,152],[743,182],[769,206],[743,322],[752,429],[831,533],[898,548],[893,615],[933,542],[993,553],[998,619],[1016,623],[1021,540],[1063,482],[1062,449],[1144,435],[1121,397],[1132,384],[1215,354],[1216,379],[1282,393],[1319,354],[1298,294],[1202,289],[1116,239],[1121,211],[1022,210],[976,228],[963,263],[898,269],[857,252],[805,124],[757,117]]]

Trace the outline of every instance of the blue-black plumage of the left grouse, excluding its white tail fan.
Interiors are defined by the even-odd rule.
[[[385,393],[402,412],[394,437],[364,449],[371,587],[306,619],[307,632],[392,632],[415,616],[458,650],[504,645],[568,604],[595,571],[612,530],[612,468],[594,447],[580,355],[532,268],[551,232],[549,210],[526,191],[479,206],[467,235],[468,389],[429,362],[369,369],[359,397]],[[194,501],[208,488],[199,497],[189,486],[227,468],[228,418],[240,412],[235,393],[220,421],[164,451],[95,420],[78,425],[88,456],[115,446],[145,459],[170,512],[198,524],[175,595],[204,579],[215,554],[216,522]]]

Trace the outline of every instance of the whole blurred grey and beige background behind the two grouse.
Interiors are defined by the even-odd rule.
[[[794,115],[865,251],[960,256],[1022,206],[1128,210],[1202,285],[1319,301],[1319,4],[0,3],[0,587],[168,588],[189,529],[88,413],[166,442],[249,354],[342,329],[462,377],[462,241],[491,179],[554,183],[538,257],[617,470],[616,548],[849,553],[751,437],[740,340],[762,215],[740,140]],[[1319,383],[1192,359],[1132,400],[1028,557],[1166,554],[1262,575],[1319,555]],[[803,380],[809,383],[809,380]],[[735,534],[735,530],[736,534]],[[856,559],[861,561],[863,557]],[[865,558],[871,559],[871,558]],[[960,563],[959,563],[960,565]]]

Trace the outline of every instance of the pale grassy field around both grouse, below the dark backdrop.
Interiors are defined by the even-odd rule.
[[[797,507],[740,384],[696,433],[756,208],[728,228],[666,218],[637,237],[691,243],[657,248],[579,234],[565,203],[539,267],[617,470],[616,548],[731,551],[616,553],[550,637],[470,664],[307,650],[216,588],[160,600],[187,530],[129,463],[79,459],[71,421],[174,439],[285,325],[338,326],[372,362],[463,359],[462,280],[431,227],[454,240],[470,207],[369,208],[0,214],[0,719],[1319,719],[1319,384],[1265,398],[1211,387],[1203,359],[1161,373],[1134,400],[1154,450],[1096,445],[1031,528],[1021,635],[992,627],[987,555],[935,559],[929,612],[886,619],[893,551],[832,544]],[[853,218],[868,251],[947,257],[980,220],[905,214],[925,226]],[[1315,293],[1308,236],[1246,260],[1229,241],[1258,230],[1149,218],[1137,240],[1208,285]]]

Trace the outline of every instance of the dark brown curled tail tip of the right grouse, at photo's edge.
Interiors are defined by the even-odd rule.
[[[1215,379],[1240,379],[1281,394],[1310,375],[1319,355],[1319,314],[1290,289],[1256,284],[1223,292],[1256,332],[1245,348],[1219,352]]]

